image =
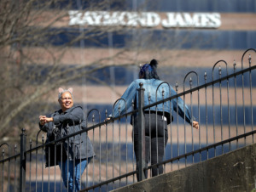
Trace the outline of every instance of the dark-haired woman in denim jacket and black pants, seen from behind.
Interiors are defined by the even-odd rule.
[[[144,105],[153,104],[154,102],[160,101],[164,98],[170,97],[170,95],[177,94],[173,88],[168,86],[166,83],[160,81],[159,76],[157,75],[157,61],[152,59],[150,64],[145,64],[141,67],[139,71],[139,79],[131,82],[129,88],[125,90],[125,93],[122,95],[118,104],[115,105],[113,109],[113,116],[119,116],[125,113],[125,109],[129,109],[131,107],[132,101],[135,103],[135,109],[138,106],[138,94],[137,89],[140,88],[139,84],[143,83],[144,91]],[[162,83],[162,84],[161,84]],[[161,85],[160,85],[161,84]],[[160,86],[160,87],[159,87]],[[157,93],[156,93],[157,91]],[[171,94],[170,94],[171,92]],[[150,96],[150,100],[148,99]],[[124,101],[125,100],[125,101]],[[125,106],[126,105],[126,106]],[[171,109],[170,109],[171,108]],[[177,109],[178,108],[178,109]],[[185,120],[191,124],[196,129],[199,128],[199,124],[195,121],[195,118],[191,116],[189,108],[185,105],[185,113],[183,110],[183,99],[177,98],[172,99],[171,104],[170,101],[165,102],[164,104],[158,104],[157,106],[153,106],[145,109],[145,142],[146,142],[146,163],[148,164],[149,159],[151,159],[151,165],[159,163],[163,160],[164,150],[166,148],[168,133],[167,133],[167,124],[172,121],[172,112],[177,111],[178,115],[183,117],[185,116]],[[134,121],[134,122],[132,122]],[[138,121],[137,114],[135,114],[131,118],[131,124],[134,126],[134,150],[136,158],[138,158],[139,150],[138,150]],[[151,147],[148,147],[149,144]],[[149,151],[151,149],[151,151]],[[137,169],[138,169],[138,161],[137,161]],[[156,176],[163,172],[163,167],[153,167],[152,168],[152,176]],[[144,172],[145,177],[147,178],[147,172]]]

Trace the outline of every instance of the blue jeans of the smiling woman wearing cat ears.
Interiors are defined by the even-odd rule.
[[[83,172],[87,167],[88,163],[90,162],[91,158],[92,157],[88,158],[88,162],[87,162],[87,158],[82,159],[81,161],[75,160],[74,169],[73,169],[73,161],[68,161],[68,160],[63,161],[62,166],[61,166],[61,161],[59,161],[59,167],[61,169],[61,177],[65,187],[68,188],[68,191],[72,192],[73,189],[74,191],[80,190],[81,176],[83,175]],[[68,164],[68,171],[67,171],[67,164]],[[74,179],[73,179],[73,176],[74,176]],[[75,185],[74,187],[73,187],[73,183]]]

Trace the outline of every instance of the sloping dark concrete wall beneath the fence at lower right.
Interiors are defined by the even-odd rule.
[[[256,144],[113,191],[256,191]]]

